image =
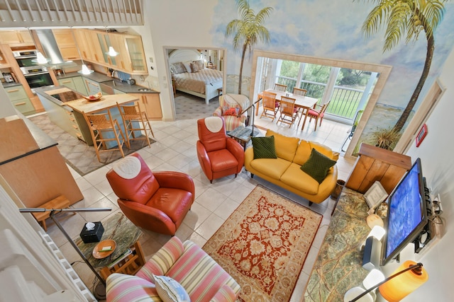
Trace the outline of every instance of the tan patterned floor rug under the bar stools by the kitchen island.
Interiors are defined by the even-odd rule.
[[[48,134],[49,137],[57,141],[58,151],[60,151],[63,158],[65,158],[67,165],[70,165],[71,168],[82,176],[121,158],[120,151],[116,150],[99,153],[101,162],[98,161],[96,151],[94,151],[94,146],[88,146],[84,143],[84,141],[72,137],[72,135],[52,123],[47,114],[28,117],[28,120],[31,120],[33,124]],[[153,144],[154,142],[155,141],[153,139],[150,139],[150,144]],[[143,147],[148,148],[148,144],[145,140],[131,141],[131,149],[128,149],[125,144],[123,145],[123,152],[126,156],[142,149]]]

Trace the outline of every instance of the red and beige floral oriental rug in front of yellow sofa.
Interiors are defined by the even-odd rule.
[[[289,301],[323,216],[258,185],[204,245],[239,301]]]

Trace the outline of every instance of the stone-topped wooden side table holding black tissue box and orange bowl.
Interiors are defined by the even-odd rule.
[[[74,241],[90,265],[94,269],[100,270],[99,274],[104,280],[114,272],[123,274],[135,274],[138,272],[140,267],[145,264],[142,247],[138,241],[142,235],[140,228],[135,226],[122,213],[114,214],[106,221],[101,221],[101,223],[104,227],[104,233],[100,241],[111,239],[116,243],[116,249],[111,255],[103,259],[96,259],[93,257],[92,252],[98,242],[84,243],[81,238],[77,238]],[[125,255],[129,248],[133,252],[122,259],[122,256]],[[118,261],[118,258],[121,261]],[[116,262],[115,265],[114,262]]]

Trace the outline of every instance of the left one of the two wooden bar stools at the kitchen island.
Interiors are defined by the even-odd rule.
[[[99,153],[104,151],[118,150],[124,158],[123,144],[126,142],[126,146],[129,148],[129,142],[125,139],[118,121],[112,119],[111,112],[108,110],[107,113],[101,114],[87,114],[85,112],[83,114],[92,134],[94,150],[96,151],[96,156],[98,156],[98,161],[101,162]],[[116,141],[117,148],[108,149],[106,142],[109,141]]]

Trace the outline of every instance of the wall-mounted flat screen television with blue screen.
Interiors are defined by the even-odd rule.
[[[380,265],[385,265],[416,238],[427,224],[421,159],[418,158],[387,199],[386,235]]]

